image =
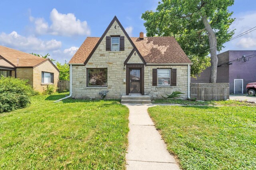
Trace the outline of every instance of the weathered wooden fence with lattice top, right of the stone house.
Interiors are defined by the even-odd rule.
[[[227,100],[229,83],[191,83],[190,92],[198,100]]]

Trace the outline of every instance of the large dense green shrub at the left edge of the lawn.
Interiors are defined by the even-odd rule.
[[[30,104],[30,96],[37,92],[27,82],[28,80],[0,76],[0,112],[12,111]]]

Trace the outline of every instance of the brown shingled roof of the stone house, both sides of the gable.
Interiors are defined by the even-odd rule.
[[[69,63],[84,63],[99,39],[100,37],[87,37]],[[144,37],[143,40],[131,37],[131,39],[147,64],[191,63],[174,37]]]

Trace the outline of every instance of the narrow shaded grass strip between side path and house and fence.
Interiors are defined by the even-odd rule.
[[[238,100],[226,101],[191,101],[182,99],[154,99],[154,104],[182,104],[182,105],[198,105],[198,106],[256,106],[256,103]]]

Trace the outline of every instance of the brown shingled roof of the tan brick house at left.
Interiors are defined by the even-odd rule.
[[[34,67],[48,60],[1,45],[0,56],[15,67]]]

